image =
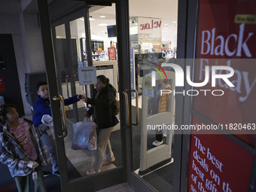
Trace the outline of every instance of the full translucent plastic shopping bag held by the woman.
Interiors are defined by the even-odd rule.
[[[73,124],[74,136],[72,141],[72,149],[96,150],[97,133],[96,123],[90,118],[85,117],[84,121]]]

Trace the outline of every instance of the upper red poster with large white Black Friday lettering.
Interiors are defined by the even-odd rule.
[[[255,1],[200,1],[194,81],[204,81],[206,66],[210,72],[212,66],[230,66],[234,75],[229,81],[234,87],[221,79],[212,87],[210,77],[203,90],[224,94],[194,96],[193,108],[214,123],[239,123],[244,128],[237,135],[248,133],[248,124],[256,122],[255,7]],[[227,74],[225,70],[216,73]]]

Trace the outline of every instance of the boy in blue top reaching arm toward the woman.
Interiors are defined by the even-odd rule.
[[[51,116],[49,90],[47,82],[39,82],[36,88],[38,90],[38,99],[36,99],[35,101],[35,113],[33,114],[32,120],[35,126],[38,127],[38,131],[39,133],[41,133],[41,139],[43,139],[44,145],[50,154],[50,160],[52,163],[52,173],[53,175],[59,176],[59,165],[56,155],[55,139],[53,134],[47,133],[47,130],[50,128],[50,126],[47,126],[46,124],[49,124],[50,122],[41,122],[41,118],[44,114],[49,114]],[[64,99],[64,103],[65,105],[71,105],[75,102],[80,101],[81,99],[84,100],[85,98],[86,97],[84,95],[75,95],[70,97],[69,99]],[[47,174],[45,174],[44,176],[46,175]]]

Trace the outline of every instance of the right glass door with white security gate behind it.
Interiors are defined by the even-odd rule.
[[[182,96],[174,94],[175,72],[170,66],[178,64],[177,26],[178,1],[130,1],[131,71],[135,69],[131,82],[139,93],[139,123],[132,126],[129,182],[137,190],[178,191],[180,158],[175,154],[181,151],[181,140],[175,127],[182,112],[175,111],[175,105],[182,105]],[[136,96],[131,100],[135,121]]]

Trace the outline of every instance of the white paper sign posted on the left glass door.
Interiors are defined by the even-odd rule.
[[[79,85],[96,84],[96,67],[78,67]]]

